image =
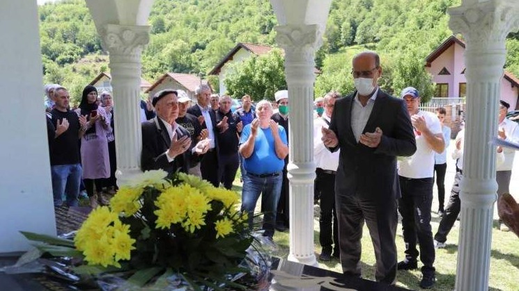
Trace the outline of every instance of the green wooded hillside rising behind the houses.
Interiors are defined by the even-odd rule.
[[[399,92],[414,85],[426,99],[432,97],[435,88],[425,58],[452,34],[447,9],[459,4],[460,0],[333,0],[323,46],[316,52],[321,74],[315,96],[330,90],[350,92],[351,58],[358,51],[373,49],[381,57],[383,89]],[[39,16],[44,81],[70,88],[77,102],[84,85],[109,71],[107,52],[86,3],[47,3],[39,6]],[[150,83],[165,72],[180,72],[208,78],[215,87],[215,76],[207,73],[238,42],[277,46],[273,29],[277,19],[268,0],[155,0],[149,24],[142,72]],[[505,69],[519,76],[519,33],[508,36],[506,48]],[[239,97],[249,91],[255,92],[253,99],[272,99],[273,86],[286,86],[279,51],[263,58],[243,66],[249,69],[235,69],[228,94]],[[254,66],[265,68],[261,74],[269,77],[244,76],[258,74],[251,73]],[[259,89],[247,87],[251,80],[260,79],[263,83],[254,84]]]

